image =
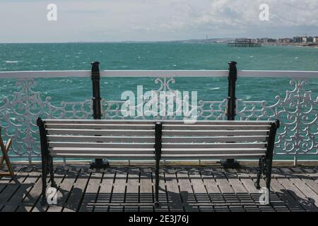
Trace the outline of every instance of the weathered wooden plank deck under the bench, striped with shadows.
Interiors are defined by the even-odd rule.
[[[318,211],[318,167],[274,167],[271,206],[259,204],[256,167],[164,167],[160,209],[152,206],[153,167],[58,166],[52,206],[40,205],[40,166],[14,167],[14,179],[0,179],[0,211]]]

